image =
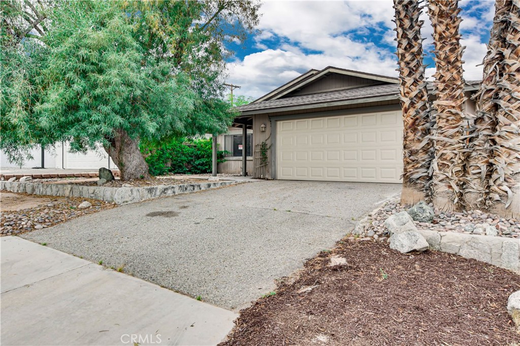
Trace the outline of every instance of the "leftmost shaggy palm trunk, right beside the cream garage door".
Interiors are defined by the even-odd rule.
[[[401,204],[430,199],[430,165],[433,147],[428,139],[432,127],[431,107],[424,78],[420,3],[394,0],[397,25],[400,100],[404,122]]]

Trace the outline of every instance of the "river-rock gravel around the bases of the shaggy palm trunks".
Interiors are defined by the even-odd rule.
[[[407,209],[408,208],[402,206],[398,200],[385,203],[380,209],[369,214],[368,220],[359,234],[359,237],[373,237],[380,241],[387,241],[389,236],[384,226],[385,220],[388,216],[406,211]],[[418,229],[428,229],[439,232],[451,231],[508,238],[520,237],[520,220],[514,218],[500,218],[497,215],[480,210],[449,213],[439,212],[439,210],[434,209],[434,212],[435,216],[431,223],[415,221],[415,226],[417,226]]]

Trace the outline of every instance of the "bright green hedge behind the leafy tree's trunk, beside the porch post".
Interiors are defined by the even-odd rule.
[[[211,173],[211,139],[176,138],[162,143],[141,141],[141,153],[151,175],[166,173]],[[218,150],[218,162],[224,162],[226,151]]]

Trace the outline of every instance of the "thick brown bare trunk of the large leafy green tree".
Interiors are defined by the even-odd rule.
[[[125,130],[115,130],[110,147],[105,147],[121,172],[121,180],[150,179],[148,163],[139,150],[139,137],[132,139]]]

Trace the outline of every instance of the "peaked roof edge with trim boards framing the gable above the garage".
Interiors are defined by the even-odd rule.
[[[346,75],[346,76],[354,76],[354,77],[365,78],[365,79],[371,79],[374,81],[384,82],[387,84],[399,84],[399,78],[376,75],[373,73],[360,72],[360,71],[354,71],[354,70],[346,70],[345,68],[339,68],[339,67],[334,67],[334,66],[327,66],[327,67],[323,68],[323,70],[321,70],[321,71],[309,70],[306,73],[304,73],[303,75],[287,82],[286,84],[271,91],[270,93],[265,94],[264,96],[253,101],[252,103],[277,100],[277,99],[281,98],[283,95],[286,95],[296,89],[302,89],[303,87],[310,85],[311,83],[313,83],[313,82],[319,80],[320,78],[323,78],[324,76],[327,76],[331,73],[336,73],[336,74],[341,74],[341,75]]]

